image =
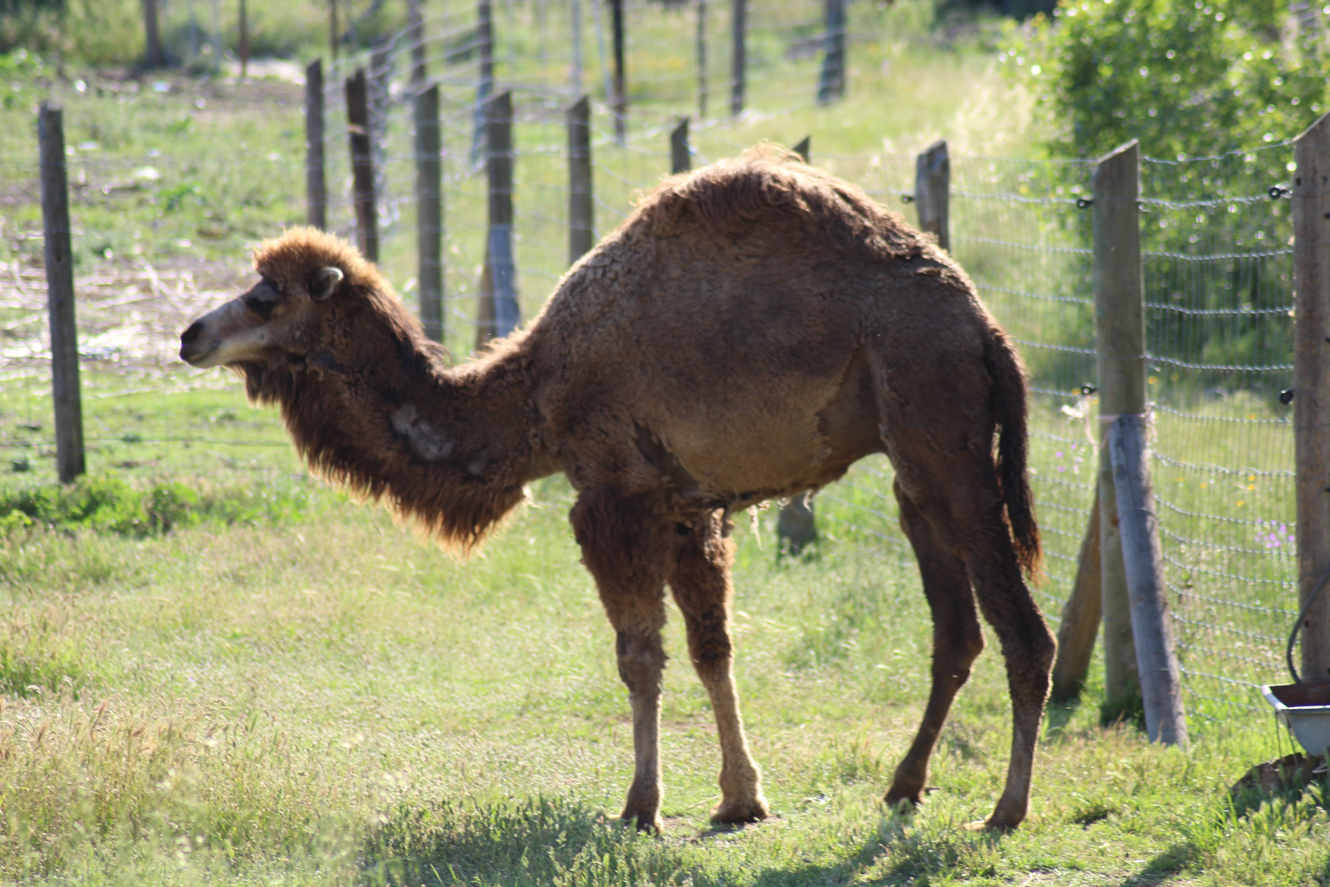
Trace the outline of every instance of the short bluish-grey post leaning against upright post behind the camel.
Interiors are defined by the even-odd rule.
[[[1123,565],[1132,606],[1136,670],[1150,742],[1186,746],[1182,680],[1164,588],[1154,491],[1150,488],[1145,416],[1124,412],[1109,426],[1109,457],[1117,492]]]

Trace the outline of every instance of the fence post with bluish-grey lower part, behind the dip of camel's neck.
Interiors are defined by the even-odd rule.
[[[485,172],[489,182],[489,233],[485,239],[484,274],[489,278],[489,291],[485,293],[487,287],[483,282],[476,324],[477,347],[489,338],[508,335],[521,320],[517,311],[516,263],[512,254],[512,93],[504,92],[495,96],[487,117],[489,122],[485,134]],[[487,319],[488,323],[485,323]]]

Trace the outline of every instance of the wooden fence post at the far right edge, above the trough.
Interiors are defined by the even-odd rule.
[[[1298,602],[1330,570],[1330,114],[1298,136],[1293,157],[1293,435],[1297,452]],[[1330,677],[1330,590],[1307,606],[1302,674]]]

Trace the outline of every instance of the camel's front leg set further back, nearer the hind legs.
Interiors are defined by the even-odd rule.
[[[721,519],[716,515],[701,517],[692,527],[680,524],[677,532],[686,536],[669,582],[688,628],[689,657],[712,697],[721,739],[721,803],[712,810],[712,819],[765,819],[767,806],[762,797],[762,774],[749,754],[732,672],[728,621],[734,547],[722,537]]]

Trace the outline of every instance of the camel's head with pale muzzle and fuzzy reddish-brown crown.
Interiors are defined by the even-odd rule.
[[[254,253],[259,274],[243,295],[194,320],[181,336],[180,356],[196,367],[299,363],[326,344],[334,298],[382,281],[340,238],[294,229]]]

